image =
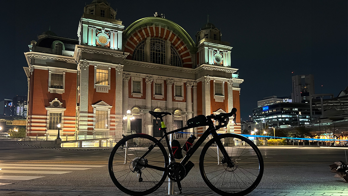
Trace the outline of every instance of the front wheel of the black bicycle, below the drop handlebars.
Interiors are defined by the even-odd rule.
[[[234,166],[217,147],[220,140]],[[263,159],[259,149],[248,138],[238,134],[222,134],[208,141],[199,158],[204,182],[219,195],[242,196],[254,190],[263,175]]]

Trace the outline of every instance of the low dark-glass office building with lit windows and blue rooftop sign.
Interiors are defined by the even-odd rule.
[[[277,103],[253,110],[253,120],[270,126],[301,126],[310,124],[309,104]]]

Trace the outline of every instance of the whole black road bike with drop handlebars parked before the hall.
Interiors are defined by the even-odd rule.
[[[160,122],[163,136],[159,140],[147,134],[122,138],[109,157],[109,174],[113,183],[126,194],[141,196],[157,190],[168,176],[177,183],[181,193],[181,181],[194,165],[189,159],[211,134],[212,139],[204,145],[199,157],[199,170],[204,182],[223,196],[250,193],[258,186],[263,175],[263,159],[259,149],[242,135],[217,133],[228,125],[229,117],[234,116],[236,122],[236,111],[233,108],[230,113],[198,115],[189,119],[186,127],[169,132],[166,131],[163,117],[172,114],[149,111]],[[187,150],[185,157],[180,162],[176,161],[168,135],[202,126],[208,128],[204,133],[199,133],[200,138]]]

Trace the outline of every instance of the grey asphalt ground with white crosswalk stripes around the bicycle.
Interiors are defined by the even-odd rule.
[[[335,161],[345,161],[345,150],[348,148],[300,147],[302,146],[259,146],[265,163],[264,174],[259,186],[249,195],[347,196],[348,183],[334,178],[335,173],[330,172],[329,165]],[[191,158],[195,167],[182,181],[181,195],[216,195],[201,178],[198,167],[200,150],[201,148]],[[108,174],[110,152],[111,150],[0,150],[0,168],[3,167],[0,176],[35,178],[11,180],[0,177],[0,195],[126,195],[114,186]],[[53,168],[46,169],[48,167]],[[17,173],[3,173],[8,170]],[[164,183],[151,195],[167,195],[167,187],[168,184]]]

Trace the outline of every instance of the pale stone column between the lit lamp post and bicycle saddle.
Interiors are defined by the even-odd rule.
[[[152,110],[152,100],[151,100],[151,83],[153,81],[152,77],[145,77],[146,83],[146,97],[145,104],[146,109]],[[145,129],[147,134],[153,136],[153,125],[152,125],[152,115],[149,113],[145,114]]]

